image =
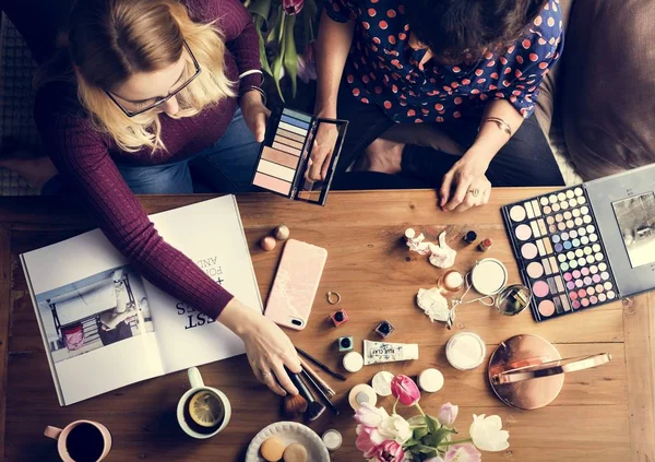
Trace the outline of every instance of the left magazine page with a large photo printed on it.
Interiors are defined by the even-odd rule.
[[[21,260],[61,405],[164,374],[144,281],[100,230]]]

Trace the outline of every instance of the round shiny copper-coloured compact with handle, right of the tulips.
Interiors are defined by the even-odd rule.
[[[562,359],[547,340],[516,335],[491,354],[489,383],[508,406],[531,411],[547,406],[559,395],[564,374],[597,367],[610,359],[607,353]]]

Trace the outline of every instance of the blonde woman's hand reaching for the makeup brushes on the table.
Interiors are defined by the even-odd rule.
[[[218,321],[241,337],[254,377],[274,393],[298,394],[284,370],[300,372],[300,359],[289,337],[269,318],[234,298],[218,316]],[[281,387],[282,386],[282,387]]]

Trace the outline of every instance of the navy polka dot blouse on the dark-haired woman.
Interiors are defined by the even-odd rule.
[[[356,22],[344,70],[353,95],[377,104],[396,122],[443,122],[478,114],[486,102],[507,99],[523,117],[535,109],[538,86],[563,47],[560,0],[549,0],[525,36],[500,54],[471,64],[430,60],[413,50],[409,25],[398,0],[326,0],[334,21]]]

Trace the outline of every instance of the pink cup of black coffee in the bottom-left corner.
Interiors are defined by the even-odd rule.
[[[63,429],[47,426],[44,435],[57,440],[63,462],[99,462],[111,450],[111,434],[97,422],[75,420]]]

